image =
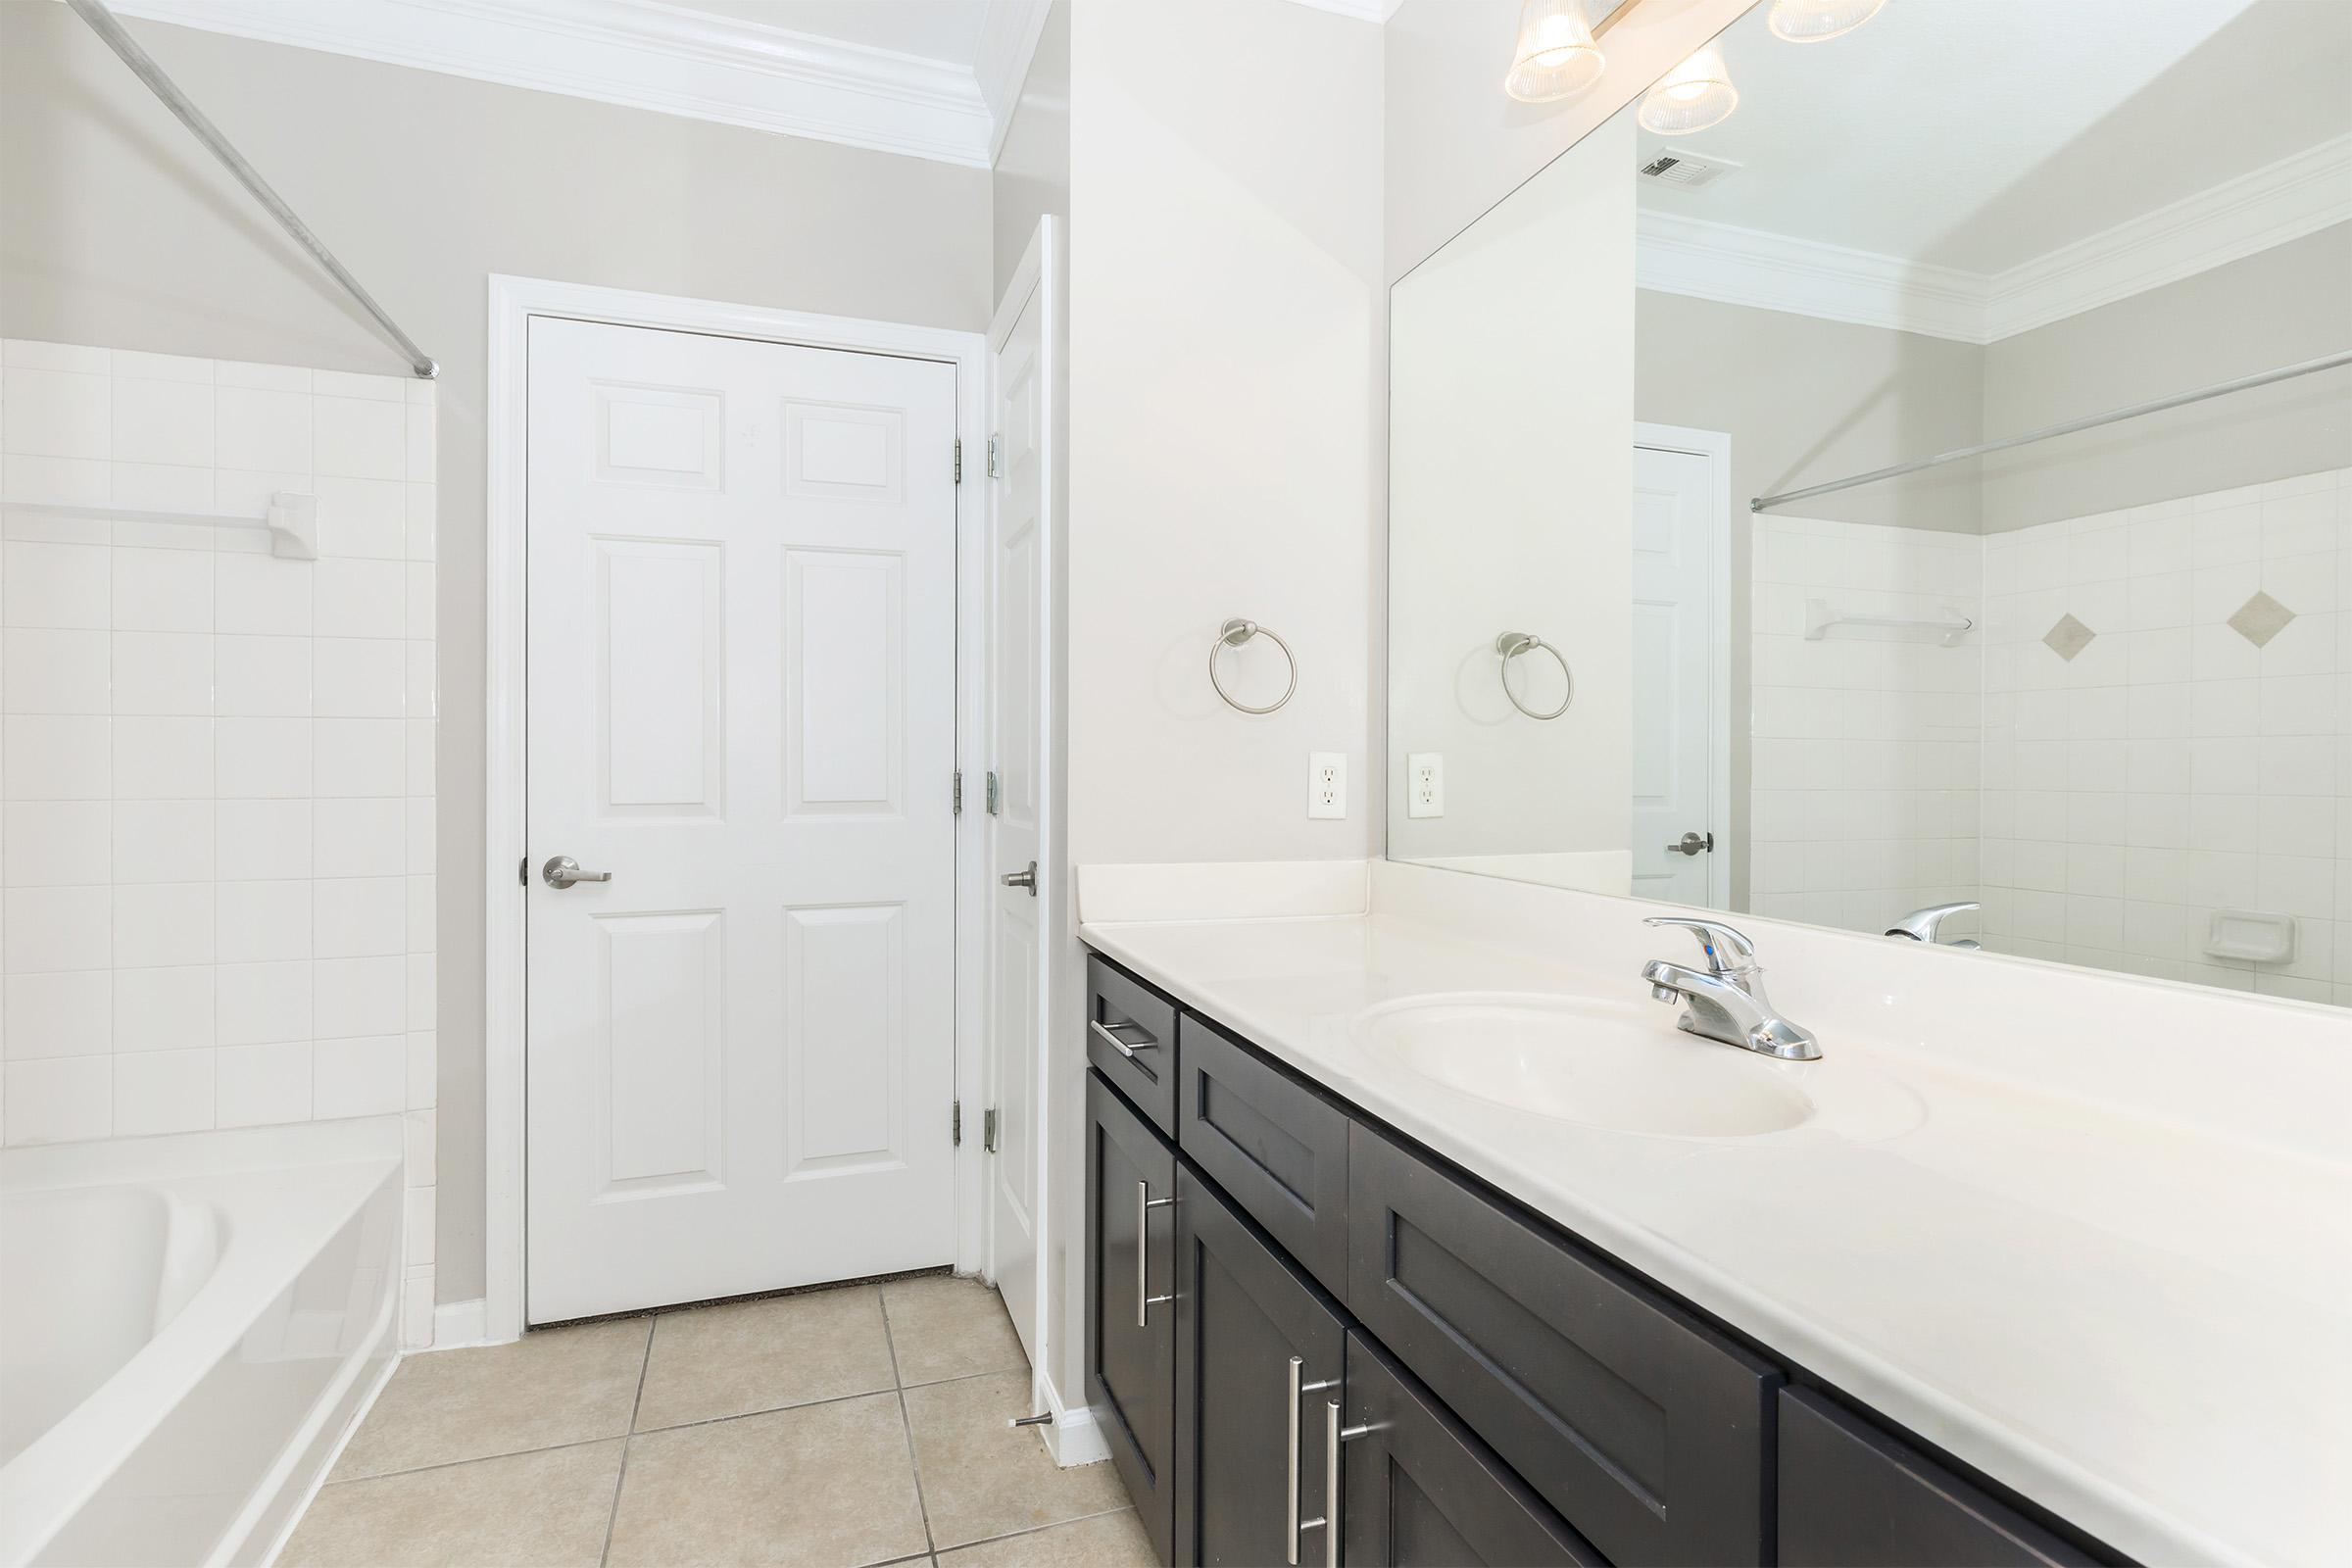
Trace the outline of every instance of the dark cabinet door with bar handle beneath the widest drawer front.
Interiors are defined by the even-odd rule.
[[[1364,1568],[1606,1568],[1409,1373],[1348,1335],[1348,1533]]]

